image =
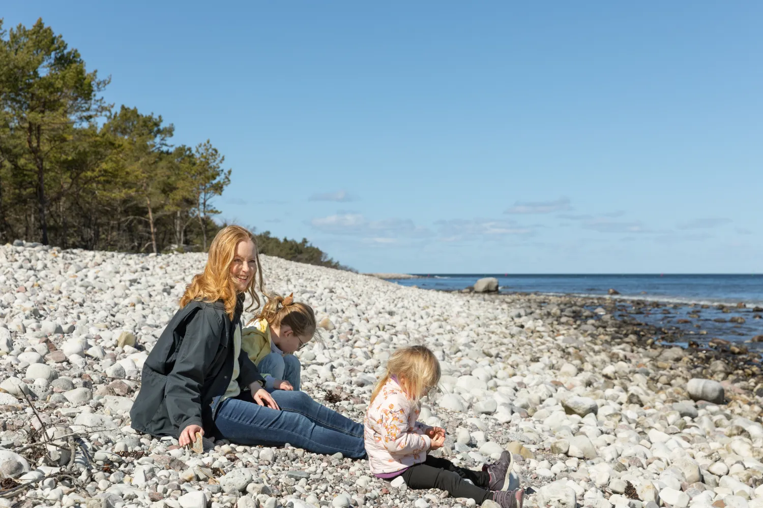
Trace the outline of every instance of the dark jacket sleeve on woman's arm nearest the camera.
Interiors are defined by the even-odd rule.
[[[167,376],[167,413],[179,432],[188,425],[204,427],[201,420],[201,387],[224,334],[221,316],[201,308],[185,327],[175,366]]]

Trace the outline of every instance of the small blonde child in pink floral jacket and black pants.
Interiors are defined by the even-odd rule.
[[[503,452],[498,462],[483,466],[482,471],[427,455],[443,446],[445,430],[423,425],[416,418],[420,398],[437,385],[439,375],[439,362],[426,347],[392,353],[365,414],[365,451],[371,472],[388,481],[400,476],[412,489],[437,488],[452,497],[471,497],[478,504],[493,500],[502,508],[521,508],[524,490],[505,490],[513,462],[510,452]]]

